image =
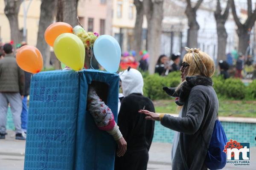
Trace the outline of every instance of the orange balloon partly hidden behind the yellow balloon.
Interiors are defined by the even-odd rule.
[[[63,33],[72,33],[73,28],[68,23],[57,22],[51,24],[44,32],[44,39],[48,45],[53,47],[55,39]]]

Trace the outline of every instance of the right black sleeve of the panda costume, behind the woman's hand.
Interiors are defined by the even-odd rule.
[[[150,101],[151,102],[151,101]],[[154,112],[155,113],[155,109],[154,109],[154,105],[151,102],[151,107],[148,109],[148,111]],[[153,136],[154,136],[154,121],[153,120],[146,120],[146,132],[145,132],[145,136],[146,136],[146,142],[148,144],[147,149],[149,150],[152,140],[153,140]]]

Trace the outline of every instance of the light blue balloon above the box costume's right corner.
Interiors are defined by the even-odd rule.
[[[106,71],[116,72],[121,59],[119,43],[110,35],[102,35],[93,45],[93,53],[97,61]]]

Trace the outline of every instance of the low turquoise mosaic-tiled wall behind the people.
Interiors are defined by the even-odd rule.
[[[238,142],[250,142],[251,147],[256,147],[256,123],[221,122],[227,139]],[[14,129],[10,108],[7,114],[7,129]],[[172,143],[175,131],[163,127],[160,122],[155,122],[153,142]]]

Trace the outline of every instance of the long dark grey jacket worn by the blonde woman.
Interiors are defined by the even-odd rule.
[[[173,170],[207,170],[204,159],[218,111],[218,98],[209,82],[212,84],[207,77],[187,77],[186,87],[181,86],[183,95],[188,94],[180,100],[184,101],[182,116],[165,115],[161,121],[163,126],[180,132]]]

